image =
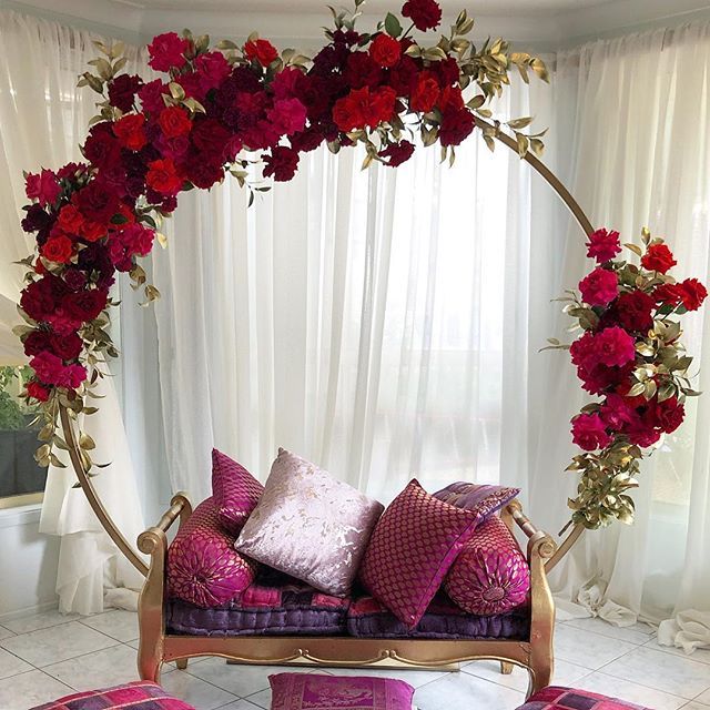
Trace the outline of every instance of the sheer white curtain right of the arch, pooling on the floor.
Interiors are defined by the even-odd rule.
[[[677,272],[710,280],[710,26],[692,24],[586,44],[558,55],[561,108],[572,115],[572,192],[598,225],[638,240],[645,225],[665,235]],[[571,287],[588,267],[567,240]],[[707,310],[686,317],[697,366],[710,356]],[[561,332],[561,321],[558,332]],[[564,437],[581,403],[569,367],[549,378],[542,466],[571,453]],[[552,385],[552,383],[555,384]],[[699,389],[708,390],[707,368]],[[665,643],[710,645],[710,404],[691,400],[677,435],[645,464],[633,527],[587,536],[557,577],[560,600],[617,623],[660,621]],[[565,605],[562,605],[565,606]]]

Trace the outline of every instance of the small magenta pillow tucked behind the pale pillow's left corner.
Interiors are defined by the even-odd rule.
[[[212,497],[220,523],[236,537],[256,507],[264,486],[244,466],[212,449]]]

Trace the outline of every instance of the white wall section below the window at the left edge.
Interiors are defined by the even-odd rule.
[[[57,605],[59,538],[40,535],[38,506],[0,510],[0,625]]]

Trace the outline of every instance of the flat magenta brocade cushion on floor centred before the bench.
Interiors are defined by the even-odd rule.
[[[270,676],[271,710],[412,710],[414,688],[403,680],[361,676]]]

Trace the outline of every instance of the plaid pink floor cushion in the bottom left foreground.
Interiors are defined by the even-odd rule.
[[[139,680],[104,690],[87,690],[30,710],[195,710],[160,686]]]

